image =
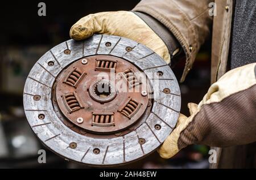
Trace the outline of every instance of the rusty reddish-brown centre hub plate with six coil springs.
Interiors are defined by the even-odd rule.
[[[73,126],[84,131],[115,134],[127,130],[150,103],[150,88],[140,72],[111,55],[79,59],[56,78],[57,105]]]

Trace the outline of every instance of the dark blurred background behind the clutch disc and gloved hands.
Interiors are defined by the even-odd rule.
[[[38,3],[46,16],[38,16]],[[38,164],[42,147],[31,133],[23,113],[22,93],[28,72],[53,46],[69,39],[69,28],[83,16],[101,11],[131,10],[139,1],[5,1],[1,2],[0,30],[0,168],[76,168],[47,151],[47,164]],[[210,85],[210,41],[205,42],[191,72],[180,84],[181,113],[187,103],[199,103]],[[184,61],[173,68],[177,78]],[[208,168],[208,147],[191,145],[170,160],[157,153],[128,168]],[[88,168],[84,166],[84,168]]]

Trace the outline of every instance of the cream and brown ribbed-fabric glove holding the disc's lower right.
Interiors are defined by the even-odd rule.
[[[158,149],[163,158],[189,144],[213,147],[256,141],[256,63],[235,68],[212,84],[199,105],[188,104],[176,128]]]

